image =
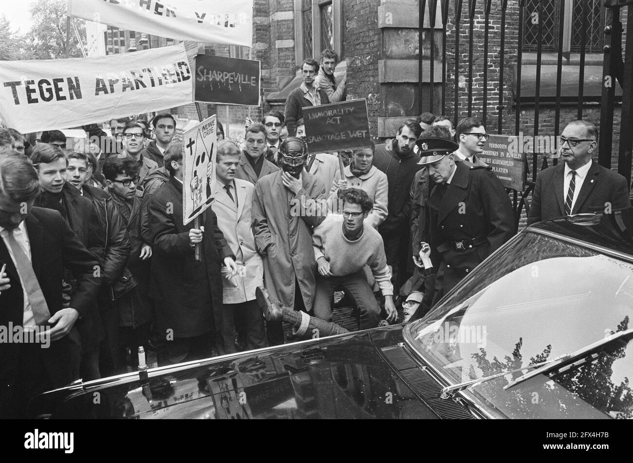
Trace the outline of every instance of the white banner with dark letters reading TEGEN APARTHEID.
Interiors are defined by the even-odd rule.
[[[184,44],[98,58],[0,61],[0,114],[28,133],[193,101]]]

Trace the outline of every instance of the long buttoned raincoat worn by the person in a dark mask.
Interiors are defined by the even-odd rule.
[[[272,299],[294,308],[294,282],[299,282],[306,309],[312,309],[316,290],[316,260],[312,228],[327,215],[325,185],[306,172],[298,194],[284,187],[282,171],[261,178],[253,197],[253,233],[257,249],[265,252],[264,280]],[[294,200],[291,204],[291,200]],[[301,213],[305,204],[305,213]],[[318,205],[318,207],[315,207]],[[270,245],[270,247],[268,247]],[[266,249],[268,247],[268,249]]]

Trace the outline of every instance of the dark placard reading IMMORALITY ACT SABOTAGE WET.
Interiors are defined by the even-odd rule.
[[[331,152],[372,145],[365,98],[303,108],[310,152]]]

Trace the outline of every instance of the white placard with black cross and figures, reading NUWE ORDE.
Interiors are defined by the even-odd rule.
[[[211,206],[217,149],[215,115],[182,135],[182,222],[189,223]],[[209,231],[213,233],[213,230]]]

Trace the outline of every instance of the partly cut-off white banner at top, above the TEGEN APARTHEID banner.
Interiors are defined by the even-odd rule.
[[[171,39],[253,41],[253,0],[68,0],[68,15]]]

